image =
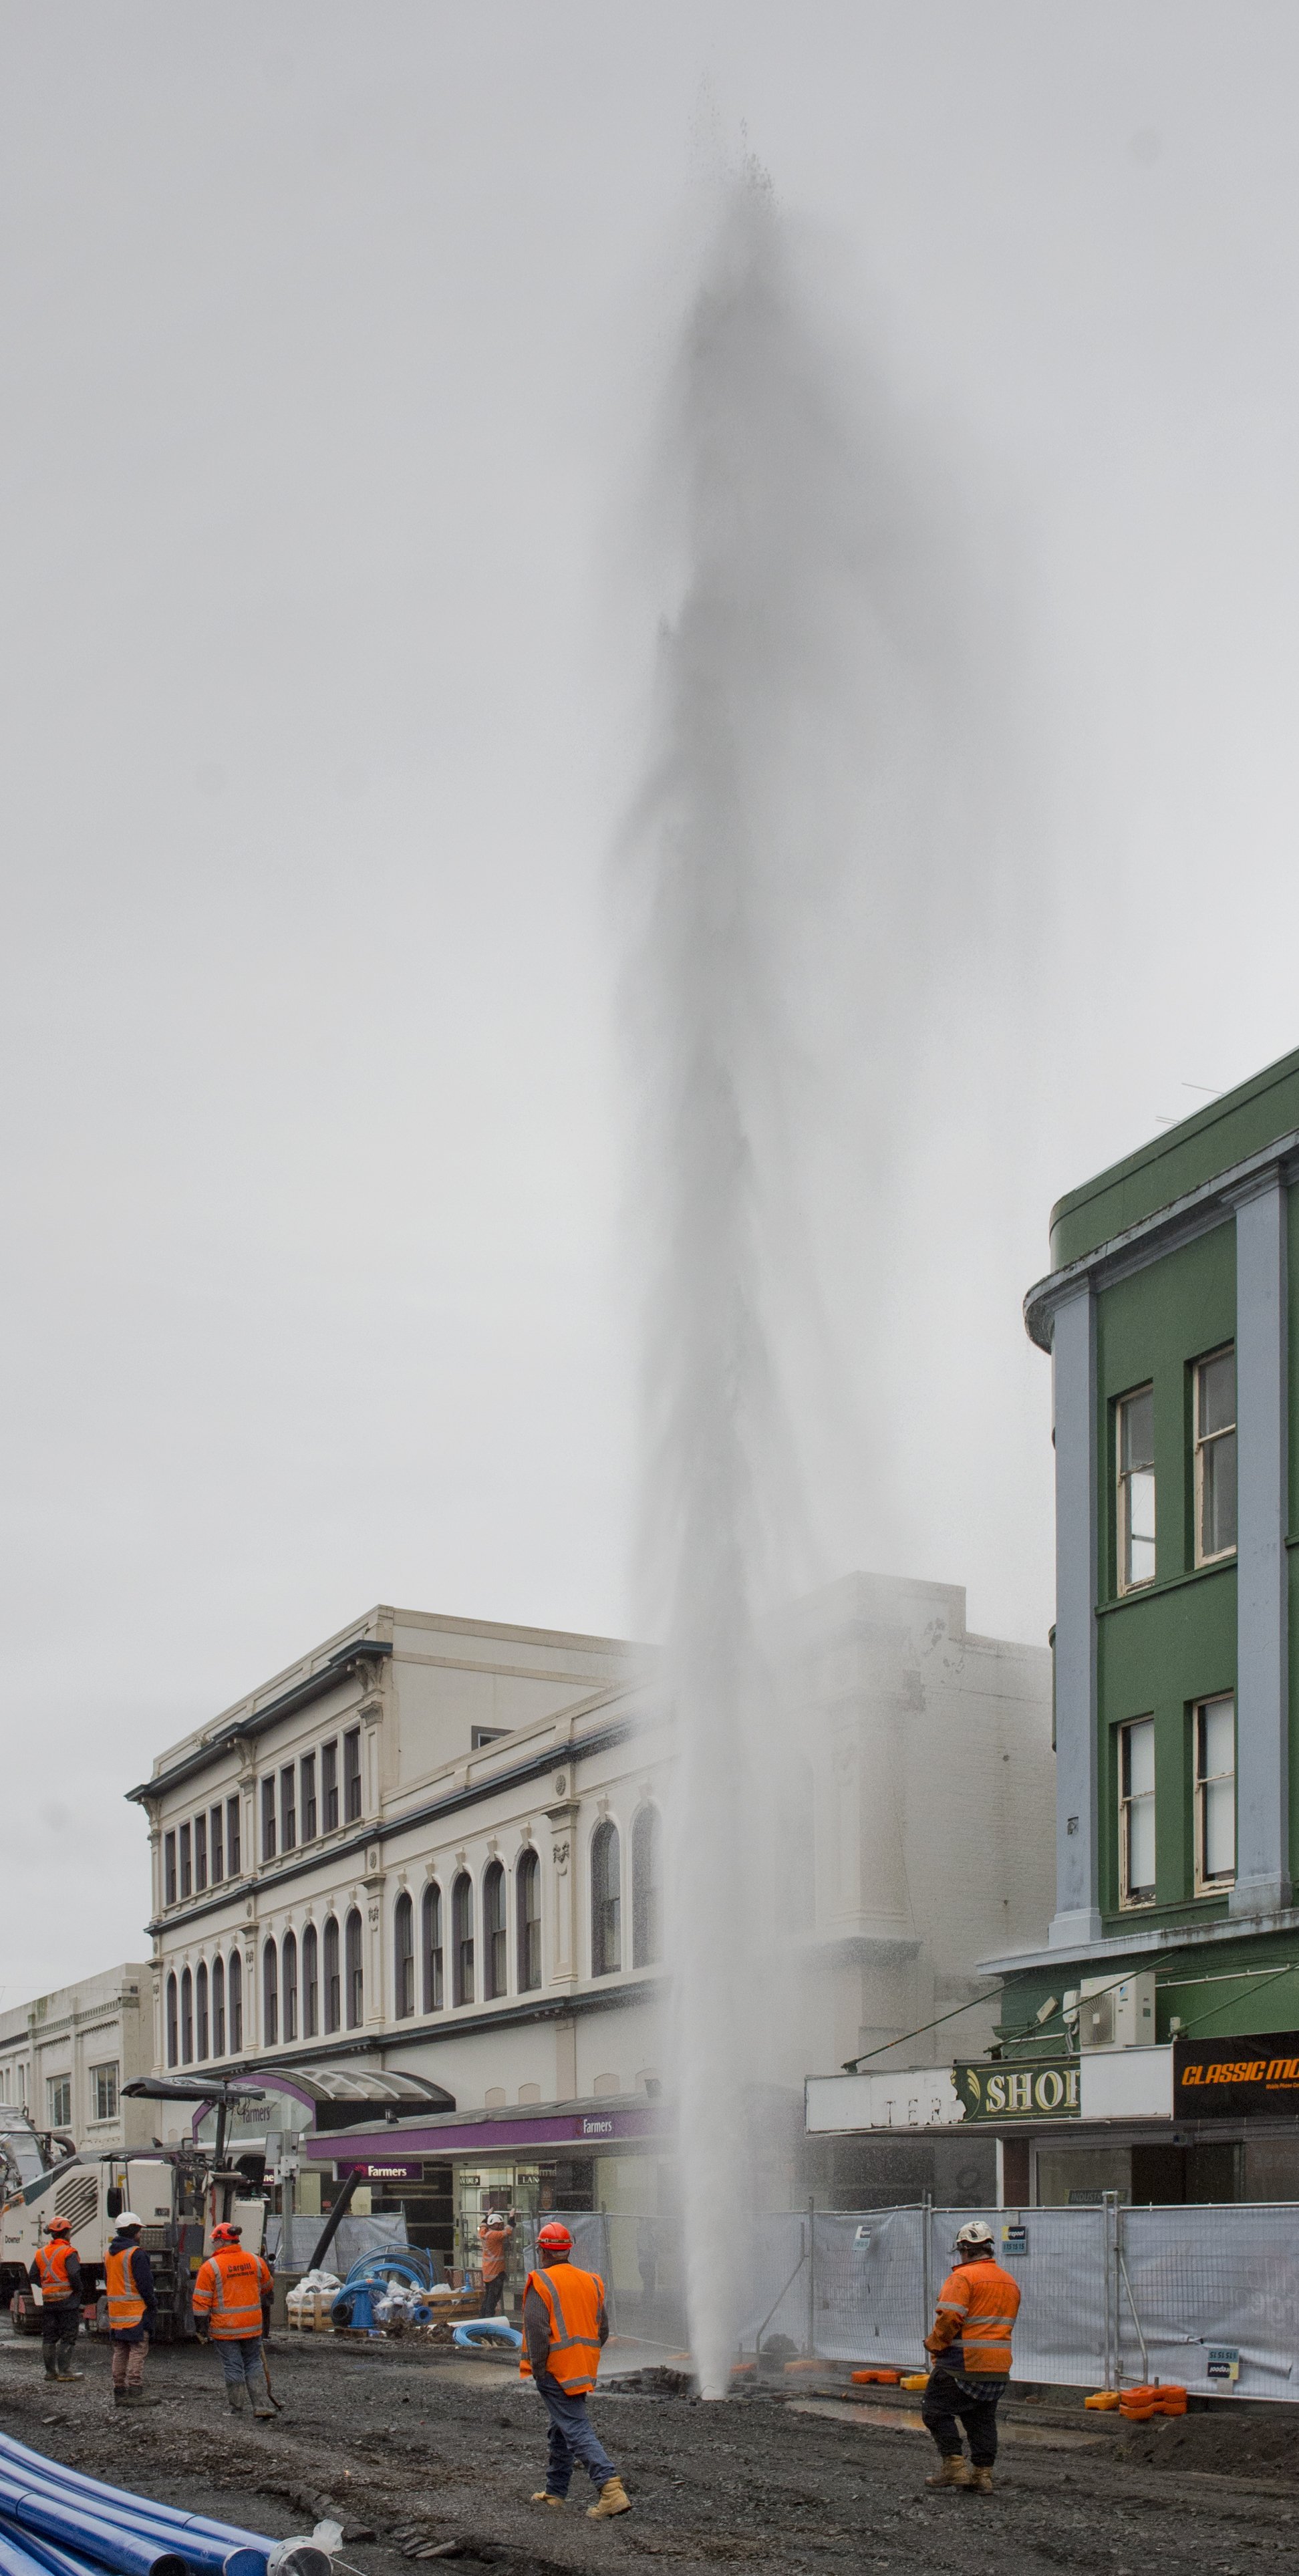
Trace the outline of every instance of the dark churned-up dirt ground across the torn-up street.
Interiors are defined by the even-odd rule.
[[[101,2344],[80,2360],[80,2385],[49,2388],[39,2347],[3,2336],[0,2429],[90,2476],[273,2537],[332,2509],[358,2576],[412,2576],[415,2550],[446,2553],[467,2576],[487,2566],[668,2576],[709,2563],[768,2576],[1255,2576],[1294,2548],[1299,2409],[1294,2432],[1289,2409],[1268,2411],[1268,2458],[1250,2481],[1240,2476],[1245,2409],[1119,2437],[1113,2419],[1095,2432],[1077,2398],[1072,2416],[1052,2401],[1018,2403],[997,2491],[982,2499],[925,2491],[933,2450],[915,2419],[856,2403],[832,2378],[719,2406],[601,2391],[593,2416],[634,2512],[588,2522],[585,2476],[562,2514],[528,2506],[544,2476],[544,2414],[500,2362],[278,2336],[271,2370],[284,2414],[255,2424],[229,2416],[211,2349],[149,2354],[160,2403],[139,2414],[113,2411]],[[1206,2450],[1232,2437],[1237,2476],[1201,2473]]]

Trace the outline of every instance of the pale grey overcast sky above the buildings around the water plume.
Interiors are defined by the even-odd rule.
[[[626,1625],[616,603],[701,126],[1013,600],[1034,971],[969,945],[995,1043],[920,1020],[845,1218],[832,1538],[1044,1638],[1049,1203],[1299,1038],[1296,95],[1247,0],[0,8],[0,2004],[142,1953],[121,1790],[369,1602]]]

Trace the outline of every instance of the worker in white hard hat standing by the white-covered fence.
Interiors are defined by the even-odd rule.
[[[938,2290],[933,2352],[920,2414],[938,2442],[938,2468],[928,2486],[969,2486],[992,2494],[997,2458],[997,2398],[1010,2380],[1010,2331],[1021,2287],[992,2259],[992,2228],[969,2218],[956,2236],[956,2269]],[[969,2434],[969,2465],[961,2450],[961,2424]]]

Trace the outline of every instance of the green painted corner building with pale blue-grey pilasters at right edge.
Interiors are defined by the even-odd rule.
[[[1281,2066],[1299,2032],[1291,1180],[1299,1054],[1070,1190],[1026,1298],[1054,1373],[1057,1911],[1046,1950],[987,1965],[1005,2058],[1064,2066],[1082,2032],[1082,2084],[1072,2128],[1005,2128],[1015,2200],[1039,2166],[1039,2197],[1088,2197],[1070,2151],[1134,2197],[1299,2200],[1299,2092],[1206,2076],[1229,2038]],[[1147,2048],[1088,2069],[1126,1976]]]

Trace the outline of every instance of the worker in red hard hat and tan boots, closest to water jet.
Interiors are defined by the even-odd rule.
[[[536,2380],[549,2414],[546,2483],[534,2504],[564,2504],[572,2468],[585,2463],[595,2486],[595,2504],[588,2504],[590,2522],[606,2514],[629,2514],[626,2494],[613,2460],[601,2447],[588,2419],[588,2391],[595,2388],[601,2344],[608,2339],[603,2280],[598,2272],[580,2272],[572,2262],[572,2236],[559,2218],[549,2218],[536,2236],[541,2272],[528,2272],[523,2282],[523,2352],[518,2367],[526,2380]]]

